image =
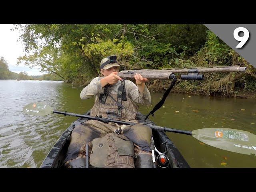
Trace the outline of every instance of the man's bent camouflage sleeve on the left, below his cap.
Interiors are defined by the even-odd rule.
[[[94,78],[88,86],[83,88],[83,90],[80,93],[81,99],[88,99],[96,94],[102,94],[104,93],[104,89],[102,88],[102,84],[100,82],[100,77]]]

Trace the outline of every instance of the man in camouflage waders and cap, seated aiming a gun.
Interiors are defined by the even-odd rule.
[[[145,82],[148,79],[136,74],[136,84],[122,80],[117,73],[116,56],[108,56],[100,62],[99,77],[94,78],[81,94],[81,99],[96,96],[91,116],[138,122],[138,104],[150,105],[151,96]],[[64,160],[67,168],[86,167],[86,144],[89,146],[89,164],[101,168],[153,168],[150,138],[152,130],[146,125],[122,126],[122,124],[88,120],[76,125]],[[120,129],[119,129],[120,130]]]

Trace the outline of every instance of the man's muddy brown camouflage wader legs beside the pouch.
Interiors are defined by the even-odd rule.
[[[108,133],[112,133],[119,127],[115,123],[106,124],[96,120],[88,120],[83,124],[77,125],[71,134],[70,145],[64,160],[65,164],[78,158],[86,158],[86,144],[89,144],[88,154],[90,157],[91,141],[94,138],[101,138]],[[130,139],[134,143],[135,155],[151,154],[151,135],[151,128],[142,124],[127,125],[121,133],[121,136]],[[132,158],[128,161],[131,162],[130,166],[134,167],[134,159]]]

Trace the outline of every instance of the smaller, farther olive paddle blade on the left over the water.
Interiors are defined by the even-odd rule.
[[[53,109],[44,103],[30,103],[23,108],[25,114],[45,116],[51,114]]]

